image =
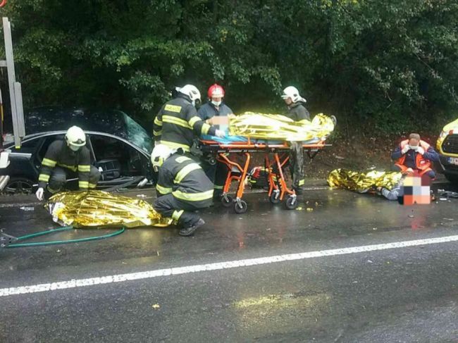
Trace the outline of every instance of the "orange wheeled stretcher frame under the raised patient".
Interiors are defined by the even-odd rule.
[[[287,187],[283,168],[289,160],[288,154],[285,154],[290,150],[287,142],[283,144],[269,144],[265,140],[258,142],[261,139],[249,139],[247,142],[234,142],[231,144],[221,144],[219,142],[211,140],[201,140],[202,151],[215,155],[215,163],[219,161],[224,163],[228,167],[229,173],[226,177],[225,184],[223,187],[223,194],[221,197],[221,203],[225,207],[229,207],[234,204],[234,210],[236,213],[245,213],[248,210],[247,202],[242,200],[245,192],[245,180],[249,172],[249,163],[252,159],[252,154],[265,154],[266,170],[268,170],[268,197],[271,203],[278,204],[286,197],[285,206],[288,209],[297,207],[297,195],[295,191]],[[307,152],[307,156],[310,160],[318,154],[321,149],[330,144],[325,144],[324,140],[321,140],[314,144],[303,144],[304,151]],[[283,154],[282,154],[283,153]],[[229,154],[237,154],[237,156],[244,156],[242,163],[239,163],[230,158]],[[273,158],[269,158],[269,154],[273,154]],[[235,193],[235,199],[228,195],[230,185],[232,182],[237,182],[237,191]]]

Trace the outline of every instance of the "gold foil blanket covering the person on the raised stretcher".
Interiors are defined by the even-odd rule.
[[[245,112],[240,116],[230,116],[229,134],[261,139],[283,141],[309,141],[326,139],[333,132],[335,119],[317,114],[311,121],[295,123],[279,114]]]

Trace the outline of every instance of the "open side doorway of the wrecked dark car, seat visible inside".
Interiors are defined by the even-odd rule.
[[[113,135],[89,134],[95,166],[101,172],[99,187],[130,183],[137,185],[151,179],[149,158],[140,149]]]

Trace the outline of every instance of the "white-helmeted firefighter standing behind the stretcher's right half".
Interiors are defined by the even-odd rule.
[[[307,102],[296,87],[286,87],[283,89],[283,100],[288,108],[285,116],[294,120],[296,123],[304,123],[310,120],[310,113],[305,108]],[[290,173],[292,176],[292,189],[296,194],[302,194],[302,187],[304,186],[304,151],[302,149],[302,142],[290,142]]]

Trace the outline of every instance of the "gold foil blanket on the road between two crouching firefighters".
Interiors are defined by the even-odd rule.
[[[172,222],[144,200],[96,190],[58,193],[44,207],[56,223],[73,227],[165,227]]]

